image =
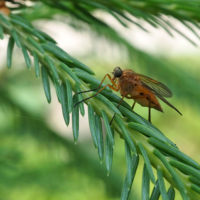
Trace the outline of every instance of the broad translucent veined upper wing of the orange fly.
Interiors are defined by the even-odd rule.
[[[167,86],[147,76],[141,74],[136,75],[140,77],[142,86],[153,92],[155,95],[162,97],[172,97],[172,92]]]

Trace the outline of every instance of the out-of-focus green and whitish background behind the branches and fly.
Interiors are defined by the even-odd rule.
[[[132,69],[167,85],[168,99],[183,116],[161,102],[164,113],[152,110],[152,123],[178,148],[200,163],[200,42],[186,28],[174,26],[197,43],[197,47],[174,33],[152,28],[145,33],[130,24],[125,29],[104,13],[96,15],[119,31],[135,52],[99,38],[89,30],[77,31],[58,21],[34,21],[51,35],[66,52],[92,68],[101,80],[114,67]],[[79,140],[75,145],[71,125],[66,127],[61,106],[51,87],[49,105],[41,78],[27,70],[22,53],[15,48],[12,68],[6,68],[8,38],[0,41],[0,199],[66,200],[120,198],[126,174],[124,141],[116,135],[113,169],[107,176],[93,146],[87,113],[80,119]],[[108,80],[106,81],[108,82]],[[131,100],[126,100],[132,104]],[[87,109],[86,109],[87,110]],[[135,111],[148,118],[148,109]],[[130,199],[141,199],[142,159]],[[177,200],[181,199],[177,196]]]

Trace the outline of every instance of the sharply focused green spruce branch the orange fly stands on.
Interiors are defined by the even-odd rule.
[[[45,3],[45,1],[43,2]],[[114,2],[119,7],[121,6],[120,8],[123,7],[123,9],[130,11],[130,8],[128,8],[129,4],[116,1],[111,2]],[[128,1],[128,3],[131,2]],[[154,1],[151,2],[153,3]],[[58,3],[56,5],[62,5],[63,8],[63,4],[60,5]],[[130,4],[130,6],[132,5]],[[149,4],[142,4],[142,7],[147,9],[147,5]],[[93,21],[101,24],[101,26],[106,26],[96,18],[93,18],[90,13],[85,12],[85,8],[79,7],[80,5],[77,6],[81,14],[84,14],[86,17],[86,21],[89,18],[90,22]],[[139,2],[137,4],[135,3],[134,6],[141,8]],[[167,7],[168,5],[165,4],[165,6]],[[160,7],[163,7],[163,4]],[[184,9],[184,7],[181,8]],[[150,10],[150,13],[154,11],[152,7],[149,7],[147,10]],[[143,16],[142,11],[138,10],[134,15]],[[153,18],[148,16],[148,12],[147,16],[143,16],[143,18],[156,26]],[[92,76],[94,73],[90,68],[57,47],[55,41],[50,36],[35,29],[25,19],[14,14],[10,16],[0,14],[0,26],[5,34],[10,35],[7,51],[8,68],[11,67],[12,50],[15,44],[22,50],[29,69],[31,68],[30,55],[34,56],[37,77],[40,75],[39,65],[41,65],[41,74],[47,101],[49,103],[51,102],[50,79],[56,88],[58,101],[62,105],[63,115],[67,125],[69,124],[69,114],[72,112],[74,141],[77,142],[79,135],[79,110],[84,115],[84,108],[83,104],[77,107],[73,107],[73,105],[82,99],[90,97],[94,93],[88,92],[72,97],[72,90],[77,93],[96,87],[99,81]],[[2,34],[0,36],[3,38]],[[184,200],[198,199],[198,193],[200,191],[200,184],[197,181],[197,177],[200,177],[199,164],[179,151],[176,145],[166,138],[161,131],[133,112],[125,102],[122,103],[118,110],[116,108],[116,103],[119,102],[118,100],[119,97],[111,93],[110,89],[107,88],[96,97],[85,101],[85,103],[88,105],[90,129],[94,146],[97,149],[102,149],[102,136],[100,136],[100,134],[102,135],[102,130],[99,117],[103,119],[106,125],[107,136],[105,146],[108,174],[112,167],[114,133],[118,133],[125,140],[127,176],[121,198],[128,198],[139,162],[138,154],[140,154],[145,163],[143,171],[144,198],[148,199],[149,180],[151,180],[155,184],[151,197],[158,197],[161,194],[163,199],[171,198],[171,196],[174,196],[173,188],[176,188]],[[116,113],[116,117],[110,127],[109,121],[112,119],[114,113]],[[98,124],[98,131],[94,130],[95,123]],[[99,154],[99,157],[102,160],[102,152]],[[157,170],[157,181],[152,167]],[[144,178],[145,174],[148,174],[146,176],[147,179]],[[164,178],[170,183],[172,188],[168,192],[164,186]]]

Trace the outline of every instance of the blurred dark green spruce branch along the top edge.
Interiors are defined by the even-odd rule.
[[[26,2],[26,1],[25,1]],[[197,38],[199,35],[196,33],[195,28],[199,29],[199,1],[170,1],[169,0],[140,0],[140,1],[116,1],[116,0],[38,0],[34,1],[35,4],[29,7],[31,12],[34,9],[39,9],[39,6],[44,6],[46,12],[40,17],[53,18],[54,14],[64,14],[73,17],[78,21],[89,24],[90,26],[95,24],[98,27],[108,28],[109,26],[101,19],[97,18],[93,13],[97,10],[109,13],[112,15],[122,26],[128,27],[128,23],[133,23],[142,30],[148,32],[143,26],[140,25],[140,20],[144,20],[155,28],[163,28],[169,35],[172,34],[172,30],[186,38],[193,45],[196,45],[187,35],[179,31],[174,27],[166,16],[173,17],[188,28]],[[43,5],[41,5],[41,2]],[[17,3],[17,2],[16,2]],[[20,7],[20,5],[19,5]],[[21,8],[21,7],[20,7]],[[54,8],[54,9],[52,9]],[[48,12],[47,10],[52,10]],[[27,14],[26,9],[21,8],[21,12]],[[34,13],[30,16],[35,18]],[[28,16],[27,16],[28,17]],[[136,19],[135,19],[136,18]]]

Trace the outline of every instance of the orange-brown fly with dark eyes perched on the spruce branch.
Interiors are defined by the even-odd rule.
[[[178,109],[176,109],[173,105],[171,105],[165,99],[165,97],[168,97],[168,98],[172,97],[172,92],[170,91],[168,87],[166,87],[162,83],[154,79],[151,79],[147,76],[137,74],[131,69],[122,70],[120,67],[116,67],[114,71],[112,72],[112,74],[113,74],[112,77],[109,74],[106,74],[104,78],[102,79],[98,88],[84,91],[84,92],[98,90],[101,87],[106,77],[110,79],[112,85],[110,84],[105,85],[96,94],[94,94],[93,96],[89,98],[83,99],[77,104],[96,96],[99,92],[101,92],[103,89],[105,89],[108,86],[114,91],[119,91],[122,96],[122,99],[119,102],[117,108],[119,108],[124,98],[134,100],[132,109],[134,108],[136,103],[139,103],[141,106],[148,107],[149,108],[149,117],[148,117],[149,122],[151,122],[151,108],[154,108],[160,112],[163,112],[163,109],[158,101],[158,98],[162,100],[163,102],[165,102],[168,106],[176,110],[180,115],[182,115],[178,111]],[[80,93],[84,93],[84,92],[80,92]],[[112,123],[114,116],[110,124]]]

